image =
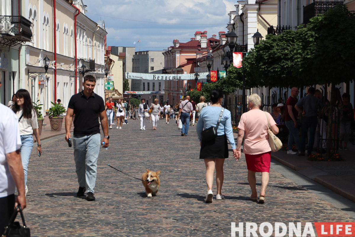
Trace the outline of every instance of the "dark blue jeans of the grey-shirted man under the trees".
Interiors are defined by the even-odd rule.
[[[305,151],[306,147],[306,137],[308,134],[308,129],[310,130],[310,138],[308,139],[308,155],[312,153],[314,145],[314,136],[316,135],[317,128],[317,116],[315,117],[303,117],[301,126],[301,152]]]

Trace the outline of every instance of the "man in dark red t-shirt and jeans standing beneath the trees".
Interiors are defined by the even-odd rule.
[[[296,147],[300,150],[300,132],[297,128],[298,111],[295,109],[295,105],[298,102],[297,96],[300,90],[297,87],[291,88],[291,96],[286,101],[286,115],[285,125],[290,131],[289,140],[287,144],[287,153],[295,155],[297,152],[292,151],[293,143],[296,143]]]

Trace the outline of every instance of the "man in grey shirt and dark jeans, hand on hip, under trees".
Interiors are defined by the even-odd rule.
[[[301,98],[296,103],[295,109],[303,115],[301,126],[301,147],[299,156],[305,155],[306,137],[308,129],[310,130],[310,138],[308,140],[308,155],[311,155],[314,145],[314,138],[317,128],[317,112],[321,108],[321,100],[314,96],[315,88],[308,88],[308,95]]]

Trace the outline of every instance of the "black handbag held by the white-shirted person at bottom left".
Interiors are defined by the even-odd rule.
[[[18,221],[15,221],[17,212],[20,212],[21,214],[21,219],[22,219],[22,225]],[[31,237],[29,228],[26,227],[26,224],[24,222],[24,217],[22,213],[21,206],[18,205],[15,210],[13,211],[13,214],[11,216],[11,219],[9,221],[9,224],[5,227],[4,234],[2,236],[6,237]]]

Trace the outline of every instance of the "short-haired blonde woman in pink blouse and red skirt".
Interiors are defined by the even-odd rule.
[[[248,112],[243,113],[238,125],[239,132],[237,138],[237,157],[241,155],[241,144],[244,137],[243,153],[248,168],[248,181],[251,188],[251,200],[257,200],[256,172],[261,172],[261,191],[258,203],[265,203],[265,191],[269,183],[269,171],[271,160],[271,148],[269,135],[267,133],[268,123],[274,134],[279,133],[279,129],[271,114],[259,109],[261,98],[257,94],[248,97]]]

